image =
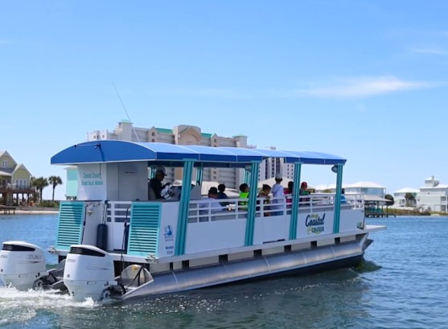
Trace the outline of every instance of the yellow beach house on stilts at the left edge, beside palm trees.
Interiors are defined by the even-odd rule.
[[[7,151],[0,151],[0,204],[12,204],[13,198],[15,202],[25,200],[25,195],[28,199],[28,195],[33,193],[30,181],[31,173],[27,167],[15,162]]]

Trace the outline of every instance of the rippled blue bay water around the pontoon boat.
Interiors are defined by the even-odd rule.
[[[0,328],[448,328],[448,218],[368,219],[356,269],[97,306],[0,289]],[[57,216],[1,216],[0,242],[55,244]],[[55,256],[45,253],[47,262]]]

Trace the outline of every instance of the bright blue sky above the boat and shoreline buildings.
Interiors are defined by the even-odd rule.
[[[64,181],[52,155],[127,119],[115,83],[136,127],[340,155],[344,183],[388,193],[448,183],[446,13],[444,0],[0,0],[0,150]],[[318,170],[302,169],[310,186],[335,183]]]

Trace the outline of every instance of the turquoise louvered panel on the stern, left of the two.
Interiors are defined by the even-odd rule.
[[[61,202],[57,227],[57,250],[70,250],[72,244],[80,244],[83,238],[85,202]]]

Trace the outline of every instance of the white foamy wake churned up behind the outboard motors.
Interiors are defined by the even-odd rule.
[[[73,302],[69,295],[62,295],[57,291],[20,291],[0,286],[0,326],[29,321],[40,311],[54,312],[66,307],[91,309],[96,306],[93,300]]]

